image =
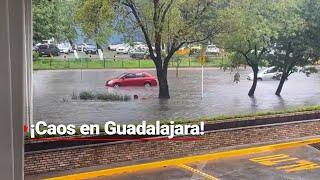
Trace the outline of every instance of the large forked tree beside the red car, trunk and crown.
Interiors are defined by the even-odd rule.
[[[206,42],[219,33],[219,10],[225,7],[218,0],[120,0],[116,6],[145,38],[156,66],[161,99],[170,98],[167,71],[171,57],[183,45]],[[167,44],[166,53],[163,43]]]

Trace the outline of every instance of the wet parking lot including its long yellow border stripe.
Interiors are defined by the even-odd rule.
[[[68,179],[302,179],[320,178],[320,139],[249,147],[52,178]],[[317,147],[317,148],[316,148]]]

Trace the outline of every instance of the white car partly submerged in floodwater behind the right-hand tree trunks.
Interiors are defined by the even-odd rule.
[[[280,80],[282,72],[279,72],[275,67],[261,68],[258,72],[258,80]],[[247,79],[253,80],[253,73],[249,74]]]

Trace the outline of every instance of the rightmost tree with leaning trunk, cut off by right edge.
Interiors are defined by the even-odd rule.
[[[276,90],[280,96],[283,85],[288,77],[301,67],[301,72],[307,65],[319,59],[320,53],[320,4],[313,0],[290,0],[280,3],[282,10],[278,13],[278,37],[272,39],[271,52],[268,55],[270,64],[282,72]],[[300,68],[300,69],[301,69]]]

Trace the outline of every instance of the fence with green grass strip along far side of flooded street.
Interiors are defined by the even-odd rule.
[[[220,67],[227,63],[224,57],[208,57],[205,67]],[[200,67],[196,57],[188,57],[177,61],[174,58],[170,61],[169,67]],[[33,62],[34,70],[50,69],[112,69],[112,68],[154,68],[155,65],[150,59],[55,59],[40,58]]]

